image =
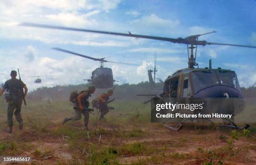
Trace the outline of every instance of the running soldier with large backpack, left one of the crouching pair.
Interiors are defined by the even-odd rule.
[[[75,107],[73,108],[75,110],[75,116],[65,118],[63,120],[63,125],[65,122],[69,120],[80,120],[82,118],[82,114],[84,115],[84,127],[85,130],[88,129],[88,122],[89,122],[89,97],[91,97],[91,94],[95,92],[95,86],[90,85],[88,87],[88,90],[81,91],[77,93],[77,91],[71,92],[69,96],[69,100],[74,103]]]

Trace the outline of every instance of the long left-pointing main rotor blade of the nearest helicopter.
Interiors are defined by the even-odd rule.
[[[51,26],[51,25],[43,25],[43,24],[34,24],[34,23],[21,23],[21,26],[29,26],[35,28],[47,28],[47,29],[59,29],[59,30],[72,30],[72,31],[80,31],[80,32],[95,32],[101,34],[108,34],[108,35],[122,35],[126,37],[137,37],[137,38],[146,38],[152,40],[162,40],[162,41],[169,41],[174,43],[184,43],[189,44],[187,40],[182,38],[175,39],[175,38],[167,38],[167,37],[156,37],[156,36],[149,36],[149,35],[134,35],[131,33],[119,33],[119,32],[108,32],[108,31],[100,31],[100,30],[89,30],[89,29],[79,29],[79,28],[67,28],[63,26]]]

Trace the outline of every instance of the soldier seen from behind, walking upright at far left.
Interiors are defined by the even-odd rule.
[[[24,97],[28,93],[28,88],[26,85],[21,81],[16,79],[17,72],[12,70],[10,73],[11,79],[7,80],[0,90],[0,96],[3,95],[5,90],[8,90],[8,95],[6,95],[6,101],[8,102],[8,110],[7,110],[7,122],[9,128],[6,130],[8,133],[12,133],[13,130],[13,112],[16,117],[16,120],[20,123],[19,129],[22,130],[23,128],[23,120],[20,114],[21,105],[23,101],[23,88],[25,89]]]

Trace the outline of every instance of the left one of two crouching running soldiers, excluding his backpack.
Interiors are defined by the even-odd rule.
[[[84,110],[84,108],[88,108],[89,107],[89,97],[91,97],[91,94],[93,94],[95,92],[95,86],[94,85],[90,85],[88,87],[88,90],[84,90],[82,92],[80,92],[80,94],[77,96],[77,102],[74,102],[75,107],[79,107],[80,110],[75,110],[76,115],[70,118],[65,118],[63,121],[63,125],[65,124],[65,122],[69,121],[69,120],[80,120],[82,118],[82,114],[84,115],[84,127],[85,130],[89,130],[88,129],[88,122],[89,122],[89,111],[88,110]]]

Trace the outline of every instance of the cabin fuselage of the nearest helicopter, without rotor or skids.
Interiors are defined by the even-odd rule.
[[[204,100],[208,102],[208,105],[210,102],[225,105],[225,100],[229,99],[238,105],[237,107],[221,107],[223,113],[229,113],[231,108],[231,112],[238,114],[244,110],[246,104],[246,98],[241,93],[236,73],[220,68],[177,70],[164,81],[163,93],[165,93],[164,97],[195,98],[190,99],[190,103]]]

